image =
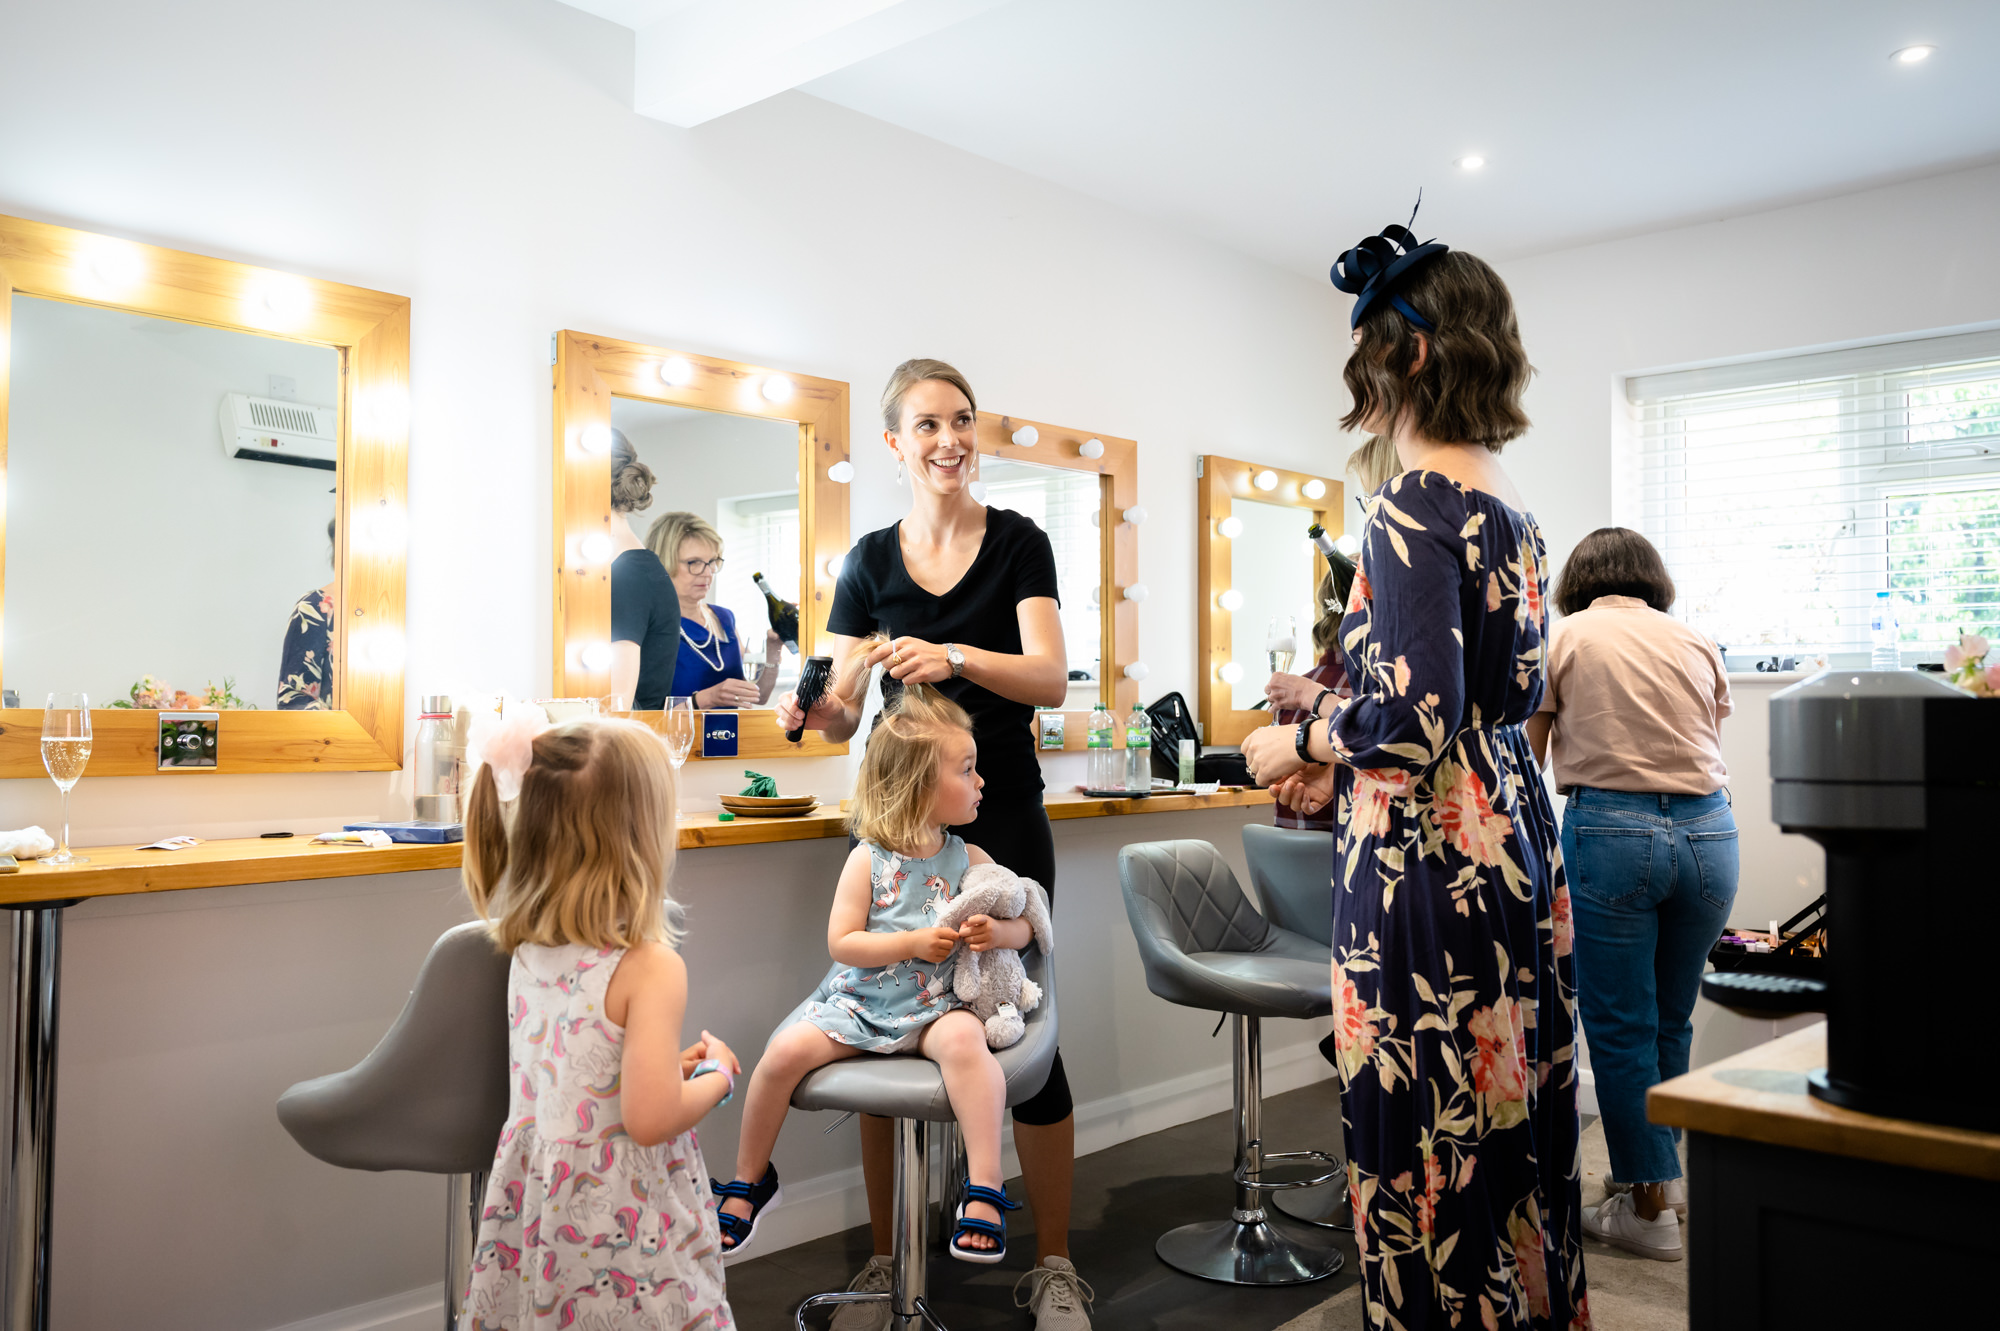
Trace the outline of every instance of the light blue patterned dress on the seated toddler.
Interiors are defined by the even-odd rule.
[[[868,847],[868,931],[934,929],[938,913],[958,895],[970,859],[966,843],[944,833],[926,859],[906,859]],[[896,961],[894,965],[834,965],[812,991],[804,1019],[842,1045],[870,1053],[916,1049],[924,1027],[960,1007],[952,995],[956,959]]]

